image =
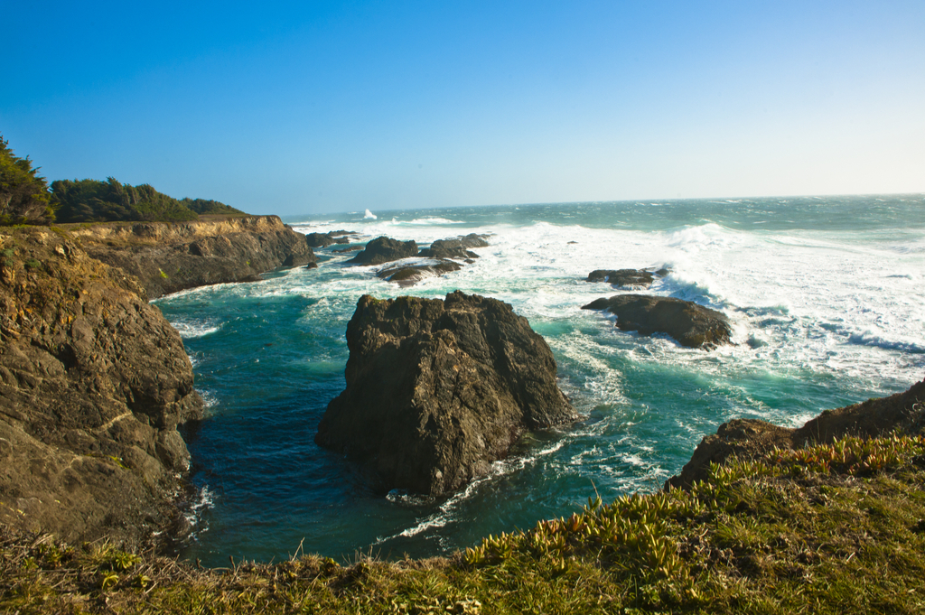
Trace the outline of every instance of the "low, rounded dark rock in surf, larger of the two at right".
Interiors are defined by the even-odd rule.
[[[688,348],[710,350],[728,344],[732,335],[729,319],[693,301],[653,295],[615,295],[591,301],[583,310],[606,310],[617,316],[616,325],[639,335],[666,333]]]

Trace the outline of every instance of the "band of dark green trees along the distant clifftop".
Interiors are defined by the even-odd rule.
[[[203,214],[244,214],[225,203],[175,199],[149,184],[116,178],[57,179],[49,187],[29,156],[21,158],[0,135],[0,225],[52,222],[182,222]]]

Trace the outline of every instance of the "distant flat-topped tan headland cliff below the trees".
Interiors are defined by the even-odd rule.
[[[150,299],[315,262],[305,237],[277,215],[66,228],[93,258],[138,277]]]

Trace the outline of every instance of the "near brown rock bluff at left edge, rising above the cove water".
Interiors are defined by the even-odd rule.
[[[182,519],[202,400],[143,294],[63,232],[0,228],[0,523],[137,543]]]

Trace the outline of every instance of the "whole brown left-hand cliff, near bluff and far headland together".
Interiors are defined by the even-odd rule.
[[[275,215],[0,228],[0,523],[72,542],[182,535],[202,416],[177,331],[148,300],[314,264]],[[169,272],[169,273],[167,273]]]

